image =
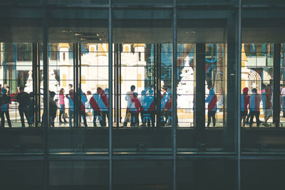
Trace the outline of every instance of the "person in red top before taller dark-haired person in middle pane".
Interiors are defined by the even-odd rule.
[[[130,117],[132,119],[130,122],[130,126],[138,127],[138,115],[142,110],[142,105],[140,104],[140,100],[138,100],[138,93],[133,93],[133,98],[130,101],[132,102],[132,105],[130,107]]]

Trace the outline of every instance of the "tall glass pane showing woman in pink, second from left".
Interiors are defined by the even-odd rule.
[[[108,10],[48,9],[48,40],[51,153],[108,152]]]

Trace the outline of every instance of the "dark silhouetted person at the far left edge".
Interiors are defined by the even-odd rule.
[[[5,117],[8,122],[9,127],[12,127],[11,125],[11,120],[10,120],[10,115],[9,115],[9,104],[11,104],[11,97],[6,95],[7,90],[5,88],[1,89],[1,110],[0,110],[0,116],[1,116],[1,127],[5,127]]]

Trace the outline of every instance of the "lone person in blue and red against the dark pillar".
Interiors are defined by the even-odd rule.
[[[209,95],[206,98],[206,103],[208,103],[208,124],[211,123],[211,117],[213,121],[213,127],[216,126],[216,112],[217,112],[217,95],[214,93],[214,90],[209,90]]]

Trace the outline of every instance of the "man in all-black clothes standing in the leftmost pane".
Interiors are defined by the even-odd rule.
[[[24,115],[26,116],[26,120],[28,122],[29,127],[31,127],[30,120],[28,119],[28,101],[30,99],[30,95],[28,93],[24,92],[25,88],[21,86],[19,88],[20,93],[17,95],[16,100],[19,102],[19,114],[21,117],[21,125],[22,127],[25,126],[25,120]]]

